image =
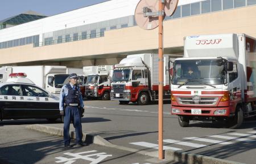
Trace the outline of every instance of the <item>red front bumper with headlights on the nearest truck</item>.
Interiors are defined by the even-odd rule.
[[[201,110],[201,114],[192,114],[192,110]],[[230,116],[230,107],[184,107],[171,106],[172,115],[189,115],[189,116]]]

